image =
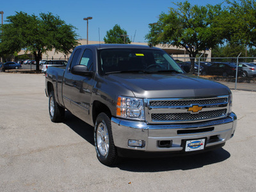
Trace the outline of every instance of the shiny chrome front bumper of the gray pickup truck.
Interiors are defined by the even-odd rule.
[[[148,152],[179,152],[184,150],[184,140],[206,138],[207,147],[220,145],[232,138],[236,130],[237,116],[193,124],[146,124],[145,122],[111,118],[113,140],[116,147]],[[143,140],[143,147],[129,147],[128,140]],[[172,146],[162,147],[159,141],[172,141]]]

